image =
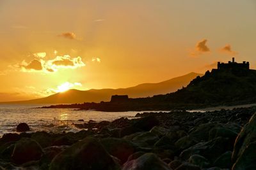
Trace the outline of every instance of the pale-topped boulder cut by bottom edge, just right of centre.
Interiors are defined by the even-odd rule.
[[[154,153],[145,153],[138,159],[126,162],[122,170],[170,170],[168,164]]]

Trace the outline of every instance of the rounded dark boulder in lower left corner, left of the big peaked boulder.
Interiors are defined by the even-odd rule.
[[[42,153],[41,146],[35,140],[22,138],[15,143],[12,162],[15,164],[24,164],[31,160],[39,160]]]

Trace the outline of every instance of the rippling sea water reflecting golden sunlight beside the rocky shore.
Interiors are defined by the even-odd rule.
[[[43,105],[1,105],[0,104],[0,136],[8,132],[15,132],[16,127],[21,122],[26,122],[31,128],[31,132],[63,132],[77,129],[72,123],[81,123],[95,120],[115,120],[120,117],[132,118],[139,111],[125,112],[102,112],[102,111],[77,111],[74,109],[39,109]],[[44,105],[45,106],[45,105]]]

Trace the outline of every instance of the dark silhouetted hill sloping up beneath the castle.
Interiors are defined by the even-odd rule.
[[[212,69],[192,80],[188,87],[154,96],[153,100],[170,104],[247,104],[256,102],[256,70]]]

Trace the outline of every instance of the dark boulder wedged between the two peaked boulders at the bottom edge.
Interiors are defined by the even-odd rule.
[[[120,159],[121,164],[127,161],[128,157],[135,153],[135,146],[130,141],[120,138],[104,138],[100,141],[109,154]]]

